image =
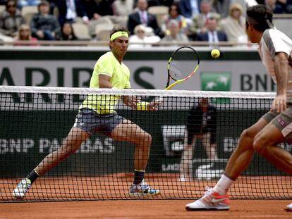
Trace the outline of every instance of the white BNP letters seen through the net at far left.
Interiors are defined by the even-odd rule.
[[[0,154],[28,153],[34,146],[33,139],[0,139]]]

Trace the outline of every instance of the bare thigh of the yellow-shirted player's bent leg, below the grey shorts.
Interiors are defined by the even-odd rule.
[[[151,135],[142,130],[138,125],[130,120],[124,119],[122,123],[116,125],[111,132],[111,137],[117,141],[127,141],[137,144],[139,142],[151,142]]]

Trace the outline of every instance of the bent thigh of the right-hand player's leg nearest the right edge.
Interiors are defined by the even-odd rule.
[[[292,108],[286,108],[282,113],[269,121],[255,137],[255,146],[268,146],[281,142],[291,142],[292,140]]]

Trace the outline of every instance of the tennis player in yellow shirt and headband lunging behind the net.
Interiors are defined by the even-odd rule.
[[[111,51],[101,56],[92,73],[91,88],[128,89],[130,70],[123,64],[123,56],[128,49],[128,30],[115,26],[111,31],[109,46]],[[155,111],[159,103],[142,102],[135,96],[123,96],[123,103],[136,110]],[[37,177],[44,175],[80,148],[91,134],[99,132],[117,141],[135,145],[135,177],[130,186],[130,195],[157,195],[144,180],[144,173],[150,153],[152,137],[138,125],[118,115],[114,108],[121,96],[89,94],[79,108],[75,123],[62,146],[46,156],[32,172],[21,180],[12,195],[18,199],[25,197]]]

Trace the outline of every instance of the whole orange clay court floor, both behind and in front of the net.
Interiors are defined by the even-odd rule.
[[[286,205],[292,202],[291,199],[283,200],[280,196],[276,196],[277,199],[271,199],[271,197],[270,199],[238,199],[239,196],[248,195],[248,191],[253,191],[253,196],[257,195],[258,197],[272,196],[272,194],[267,194],[267,191],[283,196],[285,194],[281,194],[281,192],[291,191],[291,185],[288,185],[290,187],[281,187],[279,191],[274,189],[276,189],[276,180],[285,182],[289,179],[287,177],[281,179],[274,177],[272,181],[271,178],[268,181],[268,177],[240,177],[231,189],[231,197],[233,197],[231,210],[205,212],[185,211],[185,204],[194,200],[190,197],[199,197],[203,193],[205,185],[213,186],[216,182],[214,180],[178,182],[176,174],[160,175],[161,178],[164,178],[163,182],[166,182],[166,177],[171,182],[168,185],[164,183],[163,187],[162,184],[159,184],[161,178],[159,180],[159,177],[152,175],[152,177],[148,177],[151,184],[159,187],[162,194],[152,200],[133,200],[133,197],[128,196],[127,189],[127,182],[130,182],[131,177],[130,174],[107,175],[91,179],[87,177],[85,179],[87,184],[83,186],[78,177],[44,177],[37,180],[23,201],[0,204],[0,218],[292,218],[292,212],[285,211]],[[121,182],[118,189],[114,188],[113,183],[117,179]],[[6,194],[5,201],[13,201],[9,192],[12,191],[17,182],[17,179],[1,182],[7,186],[1,189],[2,199],[3,195]],[[77,185],[74,190],[68,187],[71,182]],[[108,184],[108,182],[112,183]],[[99,183],[99,185],[95,183]],[[105,184],[108,184],[107,187]],[[254,188],[258,185],[261,188],[256,192]],[[178,197],[183,200],[176,200]],[[66,199],[105,200],[63,201]],[[35,202],[36,200],[37,202]]]

